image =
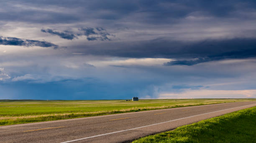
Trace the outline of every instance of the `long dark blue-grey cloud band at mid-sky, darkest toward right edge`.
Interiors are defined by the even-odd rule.
[[[164,65],[194,65],[221,59],[256,57],[256,39],[208,39],[197,42],[155,39],[143,42],[115,42],[86,48],[75,47],[77,52],[94,55],[134,58],[175,58]]]

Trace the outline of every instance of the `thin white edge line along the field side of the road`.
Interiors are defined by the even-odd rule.
[[[220,104],[233,104],[233,103],[239,103],[239,102],[240,101],[238,101],[238,102],[220,103]],[[213,106],[213,105],[218,105],[218,104],[207,104],[207,105],[200,105],[200,106]],[[199,106],[187,106],[187,107],[179,107],[179,108],[166,108],[166,109],[158,109],[157,111],[161,111],[161,110],[163,110],[163,111],[164,110],[177,110],[177,109],[181,109],[181,108],[196,108],[196,107],[199,107]],[[156,110],[140,111],[140,112],[130,112],[130,113],[118,113],[118,114],[103,115],[103,116],[92,116],[92,117],[83,117],[83,118],[72,118],[72,119],[64,119],[64,120],[57,120],[57,121],[44,121],[44,122],[38,122],[38,123],[24,123],[24,124],[19,124],[19,125],[0,126],[0,128],[10,128],[10,127],[17,127],[17,126],[28,126],[28,125],[36,125],[36,124],[42,124],[42,123],[54,123],[54,122],[63,122],[63,121],[72,121],[72,120],[82,120],[82,119],[90,119],[90,118],[101,118],[101,117],[106,117],[106,116],[118,116],[120,114],[125,115],[125,114],[145,113],[145,112],[154,112],[154,111],[156,111]]]

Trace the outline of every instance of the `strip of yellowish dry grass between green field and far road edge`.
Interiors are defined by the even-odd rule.
[[[224,102],[220,102],[220,103],[224,103]],[[220,104],[220,103],[212,103],[212,104]],[[129,113],[129,112],[158,110],[158,109],[167,109],[167,108],[201,106],[201,105],[209,105],[209,104],[192,104],[192,105],[175,105],[175,106],[158,106],[158,107],[133,107],[133,108],[121,109],[121,110],[95,111],[95,112],[84,112],[84,113],[55,113],[55,114],[46,114],[46,115],[14,116],[14,117],[7,116],[7,117],[0,117],[0,126],[20,124],[20,123],[33,123],[33,122],[41,122],[41,121],[54,121],[54,120],[71,119],[71,118],[82,118],[82,117],[90,117],[90,116],[102,116],[102,115],[110,115],[110,114],[116,114],[116,113]]]

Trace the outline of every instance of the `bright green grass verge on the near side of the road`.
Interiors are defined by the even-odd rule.
[[[256,107],[181,126],[133,143],[256,143]]]

